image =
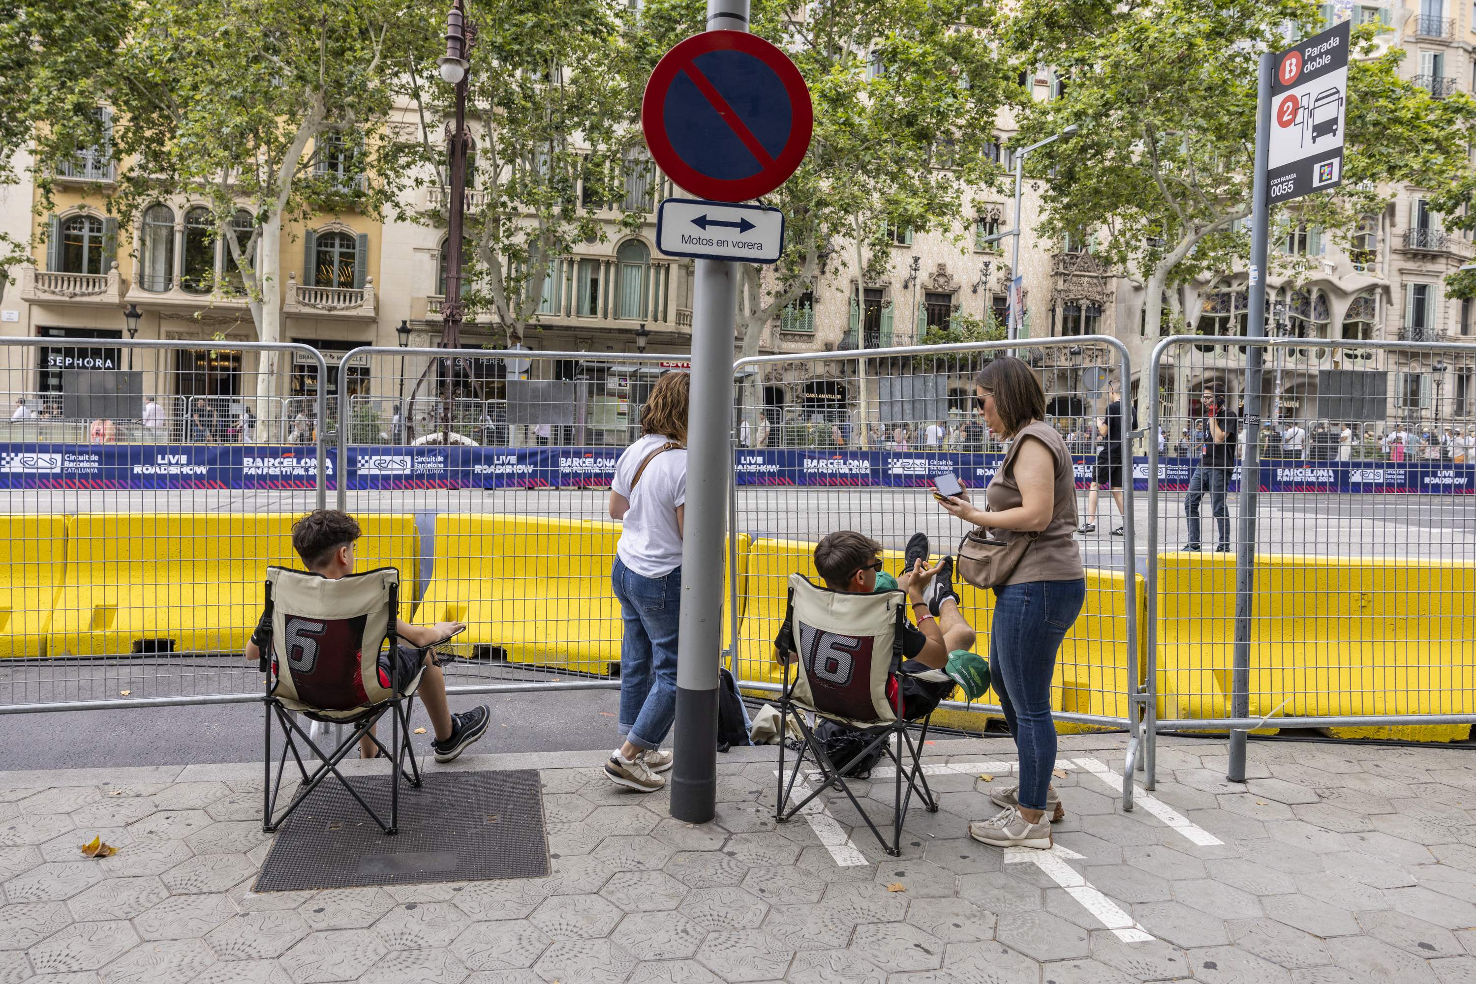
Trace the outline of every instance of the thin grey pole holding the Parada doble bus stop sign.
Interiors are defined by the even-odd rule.
[[[1250,207],[1250,338],[1266,336],[1266,248],[1269,212],[1266,152],[1271,145],[1271,80],[1277,55],[1261,56],[1256,83],[1256,171]],[[1261,490],[1261,357],[1259,345],[1246,347],[1246,416],[1240,422],[1246,459],[1240,466],[1240,516],[1235,534],[1235,649],[1231,668],[1230,716],[1250,716],[1250,621],[1256,592],[1256,500]],[[1225,777],[1246,780],[1244,729],[1230,732],[1230,767]]]

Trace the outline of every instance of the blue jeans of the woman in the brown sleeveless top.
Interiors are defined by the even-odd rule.
[[[1020,752],[1020,805],[1045,808],[1055,769],[1051,674],[1055,652],[1086,600],[1086,581],[1026,581],[995,589],[989,673]]]

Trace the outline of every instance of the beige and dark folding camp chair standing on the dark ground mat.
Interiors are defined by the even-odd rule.
[[[409,732],[415,689],[424,673],[421,667],[409,680],[396,679],[399,676],[394,670],[399,665],[396,649],[400,640],[394,631],[394,621],[399,593],[400,572],[391,567],[350,574],[339,580],[280,567],[267,568],[266,608],[272,624],[272,640],[263,649],[260,662],[261,671],[267,673],[263,831],[272,832],[282,826],[292,811],[303,805],[308,794],[332,775],[373,817],[379,829],[385,834],[397,832],[400,779],[404,777],[412,786],[421,785],[421,770],[410,748]],[[381,651],[390,654],[388,673],[381,670]],[[385,711],[390,711],[393,721],[390,748],[369,730]],[[325,754],[297,723],[294,714],[328,724],[351,724],[353,730],[337,748]],[[275,782],[272,779],[273,716],[285,739]],[[379,749],[379,757],[393,763],[388,822],[338,770],[338,763],[363,735],[369,735]],[[311,749],[311,757],[320,763],[311,773],[303,763],[298,739],[306,745],[303,751]],[[303,785],[286,810],[275,816],[288,752],[297,761]],[[410,763],[409,770],[404,767],[406,758]]]

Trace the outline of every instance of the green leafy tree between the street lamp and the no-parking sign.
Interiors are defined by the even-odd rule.
[[[474,193],[463,304],[494,319],[511,341],[536,326],[545,282],[558,276],[559,261],[577,243],[607,235],[601,212],[614,212],[626,230],[645,218],[639,202],[621,208],[627,173],[649,171],[649,161],[632,153],[641,142],[645,75],[632,71],[624,3],[472,0],[466,13],[475,25],[466,99],[466,186]],[[453,90],[434,62],[418,68],[419,146],[406,152],[440,162],[446,140],[438,121],[452,112]],[[443,177],[422,168],[419,180]],[[444,226],[446,208],[424,218]]]

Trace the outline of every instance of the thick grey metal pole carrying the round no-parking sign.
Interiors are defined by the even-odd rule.
[[[707,0],[708,31],[747,31],[748,0]],[[692,394],[686,423],[682,611],[676,649],[672,816],[707,823],[717,811],[717,668],[723,648],[728,432],[734,410],[738,264],[698,260],[692,288]]]

